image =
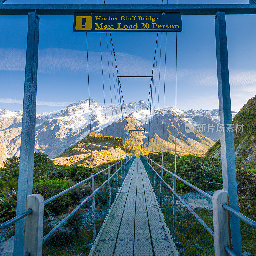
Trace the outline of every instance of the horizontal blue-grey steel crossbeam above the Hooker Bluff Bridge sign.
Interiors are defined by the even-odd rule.
[[[256,14],[256,4],[0,4],[0,14],[74,15],[75,12],[180,12],[181,15]]]

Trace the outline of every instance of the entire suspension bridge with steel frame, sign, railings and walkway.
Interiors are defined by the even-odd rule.
[[[177,33],[185,29],[181,24],[182,15],[215,15],[220,124],[224,124],[226,129],[232,124],[232,118],[225,15],[256,14],[255,0],[250,0],[249,4],[143,5],[4,4],[5,1],[0,0],[1,15],[28,15],[17,211],[15,218],[1,225],[1,229],[5,229],[15,223],[14,255],[242,256],[240,220],[253,228],[256,228],[256,222],[239,213],[232,132],[221,133],[223,190],[216,191],[213,196],[183,180],[176,172],[172,173],[157,164],[148,154],[144,155],[144,148],[140,148],[141,154],[136,157],[136,150],[134,148],[133,152],[131,146],[131,155],[127,156],[126,145],[124,159],[98,173],[92,173],[87,179],[59,194],[47,200],[39,194],[32,194],[39,15],[74,15],[74,32],[109,32],[123,128],[125,106],[121,99],[120,78],[135,76],[119,76],[111,32],[157,32],[157,46],[159,32]],[[149,129],[153,79],[156,76],[155,57],[156,49],[152,75],[141,76],[151,78]],[[130,143],[132,131],[129,129]],[[103,180],[102,175],[105,177]],[[168,182],[164,175],[169,177]],[[177,179],[212,202],[213,230],[177,194]],[[100,184],[97,188],[95,182]],[[62,216],[52,229],[43,228],[45,207],[58,203],[61,196],[68,195],[81,184],[90,184],[90,196]]]

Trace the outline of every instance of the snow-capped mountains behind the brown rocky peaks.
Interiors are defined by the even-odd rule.
[[[126,115],[129,118],[132,116],[134,127],[136,129],[139,127],[143,129],[146,115],[149,115],[149,111],[147,113],[147,109],[149,110],[147,103],[141,100],[139,102],[125,104],[124,107]],[[168,107],[164,109],[164,115],[173,116],[173,112],[175,112],[175,108]],[[176,112],[183,120],[182,124],[189,122],[196,126],[200,123],[199,117],[207,118],[208,122],[218,121],[218,109],[207,111],[189,110],[187,112],[176,109]],[[123,114],[125,118],[125,113]],[[99,106],[93,99],[90,99],[90,102],[89,99],[76,101],[58,111],[36,114],[35,151],[46,153],[50,158],[58,156],[65,149],[70,148],[70,146],[88,135],[90,132],[90,115],[91,129],[93,132],[103,131],[102,133],[104,133],[106,127],[110,127],[108,129],[111,129],[110,125],[113,124],[113,121],[118,122],[119,120],[119,124],[121,125],[120,105],[110,106],[104,109],[104,106]],[[159,111],[151,109],[151,118],[154,118],[155,115],[163,116],[163,109],[159,109]],[[22,111],[0,109],[0,143],[3,145],[9,157],[14,155],[19,156],[20,154],[21,122]],[[145,129],[145,134],[147,134],[147,125]],[[108,135],[111,134],[108,133]],[[120,133],[120,135],[116,134],[115,136],[123,135]],[[140,140],[140,136],[138,139]]]

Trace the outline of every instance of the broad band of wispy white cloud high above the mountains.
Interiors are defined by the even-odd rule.
[[[46,48],[39,51],[38,72],[41,73],[73,73],[87,72],[87,54],[85,51]],[[108,57],[110,61],[110,72],[112,72],[111,54],[102,52],[103,72],[108,73]],[[26,51],[25,49],[0,48],[0,70],[24,71]],[[100,52],[88,52],[89,72],[101,73]],[[152,63],[140,56],[123,52],[116,52],[116,60],[120,75],[142,76],[150,75]],[[160,72],[160,79],[164,77],[164,69]],[[166,81],[175,79],[175,69],[166,67]],[[203,86],[217,85],[217,71],[215,69],[186,69],[179,68],[177,79],[190,84]],[[255,70],[230,70],[231,86],[245,86],[256,84]]]

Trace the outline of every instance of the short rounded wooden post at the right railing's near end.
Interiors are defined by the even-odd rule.
[[[229,213],[222,207],[223,204],[228,204],[228,192],[218,190],[212,198],[215,256],[228,256],[224,247],[231,248]]]

